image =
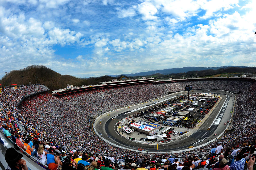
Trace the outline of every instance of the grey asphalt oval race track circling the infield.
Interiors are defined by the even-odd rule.
[[[193,92],[190,92],[190,93],[203,92],[203,91],[208,92],[207,90],[193,90]],[[155,101],[157,102],[157,101],[160,101],[165,98],[177,96],[180,93],[185,93],[185,92],[172,93],[169,96],[163,97],[163,98],[155,100]],[[170,143],[162,143],[162,144],[158,143],[158,151],[159,152],[178,151],[181,149],[187,149],[189,146],[196,147],[198,145],[206,143],[206,141],[209,139],[212,140],[212,139],[216,138],[219,134],[221,134],[225,130],[228,123],[226,125],[224,125],[224,123],[227,122],[228,120],[230,120],[230,117],[231,117],[230,111],[233,109],[233,105],[234,105],[234,103],[233,103],[234,102],[234,94],[230,93],[230,92],[226,92],[227,95],[225,95],[225,91],[222,91],[222,90],[211,90],[211,93],[221,95],[222,99],[219,102],[219,104],[215,107],[215,109],[211,113],[210,117],[208,117],[205,120],[205,122],[201,125],[201,127],[199,127],[198,130],[195,131],[192,135],[191,134],[190,134],[190,136],[184,135],[181,138],[174,139],[173,142],[170,142]],[[230,95],[228,95],[228,94],[230,94]],[[229,97],[231,95],[233,95],[233,97]],[[129,109],[127,109],[127,108],[121,109],[121,110],[118,110],[118,112],[112,111],[112,112],[108,113],[108,114],[110,114],[109,116],[107,116],[107,114],[102,115],[100,118],[98,118],[94,122],[94,126],[95,126],[94,130],[97,132],[101,132],[103,138],[105,138],[106,140],[108,140],[114,144],[117,144],[118,146],[122,146],[122,147],[125,147],[128,149],[135,149],[135,150],[137,150],[138,148],[142,148],[146,151],[156,151],[157,144],[146,144],[146,143],[142,143],[142,142],[139,143],[139,142],[133,142],[131,140],[128,140],[118,134],[117,125],[115,125],[121,119],[123,119],[129,115],[132,115],[135,112],[138,113],[140,110],[131,112],[129,114],[125,114],[125,113],[127,113],[127,111],[132,110],[132,109],[137,109],[138,107],[149,105],[150,103],[153,103],[153,101],[148,102],[148,103],[143,103],[143,104],[137,105],[137,106],[131,106]],[[155,105],[159,105],[159,103],[155,104]],[[224,106],[224,107],[222,107],[222,106]],[[150,107],[152,107],[152,106],[150,106]],[[144,110],[144,109],[145,108],[143,108],[141,110]],[[112,117],[114,117],[116,115],[118,115],[118,116],[111,119]],[[216,117],[218,117],[217,120],[215,120]],[[102,124],[99,124],[100,119],[102,119]],[[210,130],[207,130],[207,128],[209,128],[210,126],[211,126]],[[217,135],[213,136],[213,134],[215,134],[215,133]],[[107,135],[109,135],[110,138],[108,138]],[[205,140],[203,140],[202,142],[198,142],[199,140],[204,139],[204,138],[205,138]]]

